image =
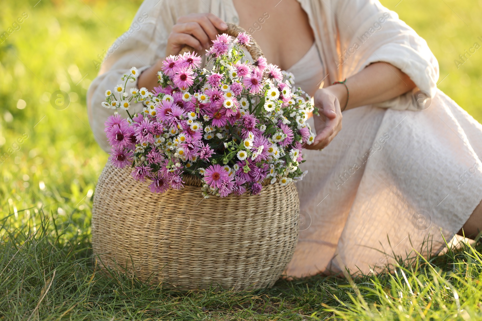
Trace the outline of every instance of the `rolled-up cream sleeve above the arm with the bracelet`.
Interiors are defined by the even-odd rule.
[[[420,97],[433,98],[439,64],[427,42],[378,0],[339,0],[335,21],[339,33],[343,78],[375,62],[392,64],[407,74],[417,88],[387,102],[393,109],[423,109]],[[424,100],[422,100],[424,101]]]

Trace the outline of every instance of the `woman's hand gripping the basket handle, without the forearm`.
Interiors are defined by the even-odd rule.
[[[184,45],[201,52],[209,49],[210,40],[216,39],[217,29],[225,30],[228,25],[213,13],[191,13],[177,19],[167,39],[166,55],[176,55]]]

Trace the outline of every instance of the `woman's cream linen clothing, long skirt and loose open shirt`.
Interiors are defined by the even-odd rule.
[[[343,112],[337,137],[322,151],[303,152],[309,174],[297,183],[300,239],[286,274],[379,272],[414,249],[436,254],[442,233],[450,240],[481,202],[481,124],[437,90],[438,63],[427,43],[379,1],[299,2],[315,44],[289,69],[296,86],[313,94],[322,79],[328,86],[383,61],[417,88]],[[88,91],[89,121],[104,150],[104,122],[113,112],[101,106],[104,91],[131,66],[142,71],[165,57],[177,17],[206,12],[239,22],[232,0],[141,5],[135,31],[116,40]]]

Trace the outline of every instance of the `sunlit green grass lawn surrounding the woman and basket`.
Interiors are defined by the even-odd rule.
[[[0,165],[0,320],[482,319],[480,243],[429,264],[415,257],[415,267],[401,262],[378,279],[315,276],[254,292],[178,293],[102,275],[90,259],[90,218],[107,154],[89,128],[85,95],[98,72],[93,60],[141,1],[37,2],[6,0],[0,10],[1,32],[28,14],[0,43],[0,152],[8,154]],[[383,4],[427,39],[441,80],[448,75],[439,87],[482,121],[482,51],[454,63],[482,44],[482,1]],[[59,89],[71,98],[64,110],[49,102]]]

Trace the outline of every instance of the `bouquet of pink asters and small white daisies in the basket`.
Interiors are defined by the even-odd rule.
[[[306,120],[318,110],[292,88],[293,74],[263,56],[243,59],[241,46],[250,40],[246,33],[218,35],[206,54],[208,69],[196,54],[169,56],[154,92],[126,90],[139,73],[131,68],[102,103],[116,110],[105,123],[112,164],[132,166],[134,179],[148,180],[153,193],[180,189],[184,175],[194,175],[205,198],[259,194],[265,180],[301,180],[302,146],[314,141]],[[142,112],[130,113],[131,103],[142,103]]]

